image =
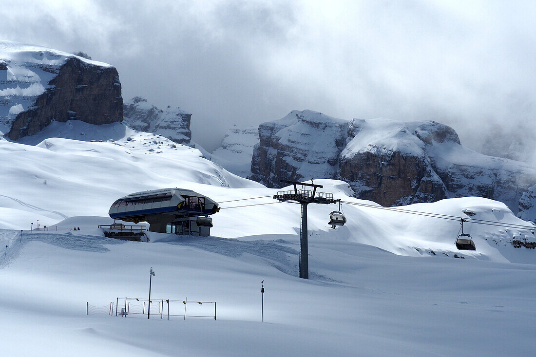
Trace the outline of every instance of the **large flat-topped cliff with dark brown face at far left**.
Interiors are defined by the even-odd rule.
[[[121,122],[117,70],[62,51],[0,41],[0,131],[17,140],[52,121]]]

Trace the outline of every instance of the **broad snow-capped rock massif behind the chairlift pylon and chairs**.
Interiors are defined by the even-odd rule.
[[[259,139],[250,178],[270,187],[280,180],[338,178],[355,197],[384,206],[479,196],[514,212],[532,207],[534,168],[471,151],[452,128],[433,121],[343,121],[293,111],[261,124]]]

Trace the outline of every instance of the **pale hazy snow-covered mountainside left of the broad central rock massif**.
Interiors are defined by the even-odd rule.
[[[251,157],[259,142],[257,127],[238,128],[234,125],[225,133],[221,146],[210,154],[210,160],[241,177],[251,175]]]

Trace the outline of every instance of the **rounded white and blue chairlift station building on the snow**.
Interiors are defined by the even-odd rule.
[[[214,200],[195,191],[168,188],[135,192],[111,205],[110,218],[147,222],[150,232],[209,236],[210,214],[218,212]]]

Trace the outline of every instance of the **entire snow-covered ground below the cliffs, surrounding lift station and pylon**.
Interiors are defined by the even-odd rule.
[[[337,206],[309,205],[310,279],[299,279],[299,205],[276,203],[277,189],[161,136],[107,135],[113,141],[0,139],[3,354],[532,355],[536,259],[511,244],[534,240],[532,229],[471,222],[532,226],[504,204],[467,197],[403,207],[465,217],[477,250],[458,251],[456,220],[377,209],[350,197],[345,182],[315,180],[347,202],[348,223],[331,229]],[[150,243],[123,242],[97,228],[110,224],[118,197],[165,187],[220,203],[211,237],[149,232]],[[151,319],[108,315],[110,303],[120,310],[125,297],[147,299],[150,267]],[[182,300],[215,301],[217,319],[167,321],[165,299],[179,301],[169,305],[175,312]],[[213,313],[193,305],[191,314]]]

